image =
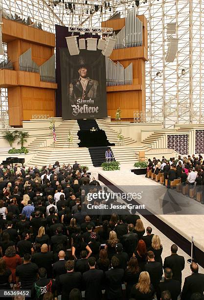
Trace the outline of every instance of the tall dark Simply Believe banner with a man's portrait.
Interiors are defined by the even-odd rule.
[[[107,117],[106,64],[101,50],[70,55],[60,49],[62,118]]]

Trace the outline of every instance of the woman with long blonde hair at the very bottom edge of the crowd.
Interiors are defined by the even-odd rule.
[[[131,298],[152,300],[154,296],[154,287],[150,283],[150,275],[148,272],[141,272],[138,283],[133,286]]]

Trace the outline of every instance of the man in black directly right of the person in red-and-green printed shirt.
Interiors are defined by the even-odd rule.
[[[72,289],[81,290],[82,288],[82,275],[80,272],[74,272],[74,261],[68,260],[65,267],[67,273],[60,275],[59,279],[56,280],[58,296],[62,295],[61,300],[69,300]]]

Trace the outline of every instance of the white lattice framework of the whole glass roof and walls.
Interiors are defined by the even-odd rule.
[[[32,22],[40,22],[42,29],[53,33],[55,24],[98,27],[101,21],[107,20],[114,13],[121,12],[121,17],[125,17],[135,5],[133,0],[73,0],[69,1],[72,5],[75,3],[75,10],[71,12],[62,4],[63,1],[1,2],[8,14],[16,13],[22,19],[29,16]],[[99,9],[96,12],[94,5],[97,4]],[[147,0],[147,3],[143,3],[140,0],[138,14],[144,14],[148,20],[147,115],[151,115],[152,122],[161,120],[164,127],[175,123],[204,123],[204,1]],[[167,35],[167,25],[170,23],[176,23],[175,37],[179,39],[173,62],[165,59],[170,37]],[[3,58],[7,59],[6,49]],[[156,75],[158,72],[161,76]],[[4,108],[1,108],[1,116],[7,111],[6,89],[0,92],[1,107],[2,103]]]

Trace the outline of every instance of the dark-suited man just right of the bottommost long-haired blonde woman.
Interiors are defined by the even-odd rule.
[[[171,300],[177,300],[181,292],[181,283],[178,280],[172,279],[172,270],[170,268],[164,269],[164,281],[159,283],[157,291],[158,300],[161,299],[161,293],[163,291],[169,291],[171,293]]]

